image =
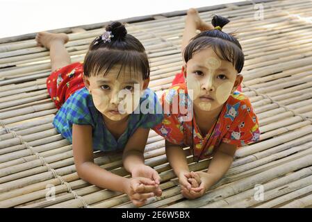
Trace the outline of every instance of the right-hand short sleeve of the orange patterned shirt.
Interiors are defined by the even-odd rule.
[[[238,147],[245,146],[250,142],[257,142],[260,138],[258,117],[254,113],[249,99],[240,103],[240,114],[234,119],[222,142],[233,144]]]

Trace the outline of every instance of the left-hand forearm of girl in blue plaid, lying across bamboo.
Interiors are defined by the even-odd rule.
[[[127,178],[110,173],[93,162],[84,162],[77,168],[79,177],[92,185],[124,193]]]

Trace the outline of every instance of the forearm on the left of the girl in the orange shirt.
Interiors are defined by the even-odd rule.
[[[183,148],[180,146],[174,146],[173,144],[166,144],[167,160],[170,163],[176,176],[179,176],[182,172],[188,172],[188,162],[186,161],[186,155]]]

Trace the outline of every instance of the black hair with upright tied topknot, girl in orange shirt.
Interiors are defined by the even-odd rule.
[[[230,20],[227,18],[213,15],[211,23],[215,29],[203,31],[192,38],[183,51],[185,62],[188,62],[197,51],[212,47],[217,56],[222,60],[231,62],[239,74],[244,67],[245,57],[242,46],[240,46],[236,37],[222,31],[223,26],[229,22]]]

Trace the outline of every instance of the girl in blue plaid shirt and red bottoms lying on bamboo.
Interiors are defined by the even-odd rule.
[[[92,41],[83,64],[71,63],[66,34],[43,32],[36,40],[50,51],[53,72],[47,89],[59,109],[53,124],[72,142],[79,176],[127,194],[138,206],[160,196],[160,177],[144,164],[143,156],[149,128],[163,119],[161,112],[142,112],[142,104],[160,108],[156,94],[147,88],[150,71],[144,46],[120,22],[106,26],[103,35]],[[93,151],[121,151],[132,178],[99,167]]]

